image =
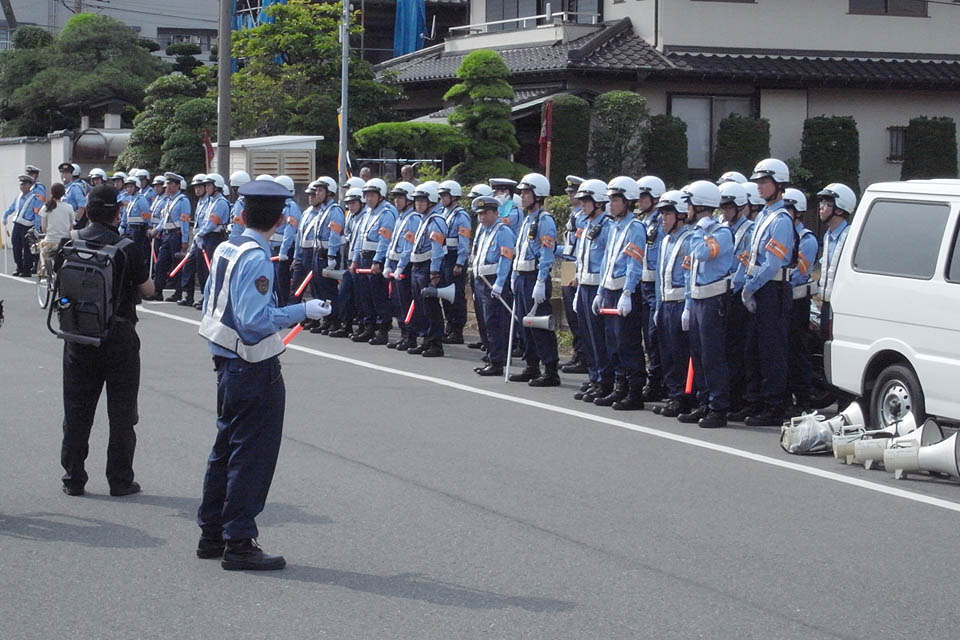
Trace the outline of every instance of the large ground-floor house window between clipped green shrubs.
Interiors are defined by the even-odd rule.
[[[720,121],[732,113],[755,115],[751,96],[671,95],[669,111],[687,124],[688,168],[703,173],[710,171]]]

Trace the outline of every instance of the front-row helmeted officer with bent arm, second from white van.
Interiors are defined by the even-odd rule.
[[[689,336],[697,408],[681,413],[677,420],[718,429],[727,426],[730,408],[725,316],[733,233],[713,218],[722,201],[717,185],[697,180],[684,189],[684,197],[695,226],[690,236],[690,275],[681,328]]]

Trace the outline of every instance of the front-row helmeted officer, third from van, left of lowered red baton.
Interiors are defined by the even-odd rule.
[[[690,408],[686,395],[690,343],[683,330],[686,285],[690,274],[690,226],[687,202],[682,191],[666,191],[657,202],[662,216],[664,238],[657,263],[657,301],[654,322],[660,342],[660,361],[667,402],[654,409],[667,418],[676,418]]]

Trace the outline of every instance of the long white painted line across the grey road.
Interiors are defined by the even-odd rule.
[[[30,283],[31,280],[23,280],[22,278],[14,278],[13,276],[8,276],[5,274],[0,274],[11,280],[17,280],[20,282]],[[168,318],[170,320],[176,320],[177,322],[183,322],[185,324],[190,324],[194,326],[200,326],[200,322],[197,320],[191,320],[190,318],[183,318],[172,313],[165,313],[163,311],[157,311],[154,309],[148,309],[144,306],[137,308],[141,313],[146,313],[149,315],[160,316],[162,318]],[[822,469],[817,469],[815,467],[808,467],[806,465],[798,464],[796,462],[790,462],[788,460],[780,460],[777,458],[771,458],[769,456],[760,455],[758,453],[752,453],[750,451],[744,451],[742,449],[736,449],[734,447],[728,447],[722,444],[716,444],[713,442],[706,442],[703,440],[697,440],[696,438],[690,438],[688,436],[681,436],[675,433],[670,433],[668,431],[661,431],[659,429],[653,429],[651,427],[644,427],[637,424],[631,424],[629,422],[623,422],[622,420],[614,420],[613,418],[605,418],[603,416],[597,416],[590,413],[585,413],[583,411],[576,411],[574,409],[567,409],[564,407],[557,407],[551,404],[546,404],[543,402],[537,402],[536,400],[529,400],[527,398],[518,398],[516,396],[507,395],[505,393],[497,393],[496,391],[489,391],[487,389],[479,389],[477,387],[471,387],[465,384],[460,384],[458,382],[451,382],[449,380],[441,380],[440,378],[433,378],[431,376],[426,376],[420,373],[412,373],[410,371],[403,371],[401,369],[394,369],[392,367],[385,367],[382,365],[374,364],[371,362],[365,362],[363,360],[355,360],[353,358],[348,358],[346,356],[340,356],[332,353],[324,353],[322,351],[317,351],[316,349],[310,349],[308,347],[301,347],[296,344],[291,344],[287,346],[287,349],[293,351],[300,351],[301,353],[307,353],[313,356],[320,358],[327,358],[328,360],[335,360],[337,362],[343,362],[345,364],[352,364],[357,367],[364,367],[366,369],[372,369],[374,371],[380,371],[382,373],[389,373],[397,376],[403,376],[405,378],[411,378],[413,380],[420,380],[422,382],[429,382],[432,384],[440,385],[442,387],[448,387],[450,389],[457,389],[458,391],[464,391],[467,393],[473,393],[476,395],[486,396],[488,398],[495,398],[497,400],[503,400],[505,402],[512,402],[514,404],[521,404],[527,407],[533,407],[541,411],[550,411],[553,413],[559,413],[573,418],[579,418],[581,420],[589,420],[591,422],[597,422],[600,424],[609,425],[611,427],[619,427],[621,429],[627,429],[629,431],[635,431],[637,433],[642,433],[648,436],[653,436],[655,438],[662,438],[664,440],[670,440],[672,442],[678,442],[680,444],[686,444],[693,447],[699,447],[701,449],[706,449],[708,451],[714,451],[716,453],[724,453],[726,455],[734,456],[744,460],[750,460],[752,462],[759,462],[761,464],[770,465],[772,467],[779,467],[780,469],[787,469],[788,471],[796,471],[798,473],[804,473],[809,476],[814,476],[817,478],[822,478],[824,480],[832,480],[833,482],[839,482],[841,484],[850,485],[853,487],[859,487],[861,489],[867,489],[869,491],[875,491],[877,493],[886,494],[888,496],[894,496],[897,498],[903,498],[905,500],[912,500],[913,502],[919,502],[921,504],[926,504],[932,507],[939,507],[941,509],[946,509],[948,511],[955,511],[960,513],[960,503],[952,502],[950,500],[943,500],[941,498],[934,498],[931,496],[925,496],[920,493],[915,493],[913,491],[907,491],[904,489],[897,489],[895,487],[888,487],[882,484],[877,484],[876,482],[870,482],[868,480],[861,480],[859,478],[851,478],[840,473],[835,473],[833,471],[824,471]]]

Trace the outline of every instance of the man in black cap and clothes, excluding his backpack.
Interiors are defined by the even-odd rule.
[[[101,245],[117,244],[120,207],[117,190],[103,185],[87,198],[90,224],[76,237]],[[137,336],[136,305],[140,296],[154,292],[141,249],[130,245],[118,254],[114,267],[114,298],[117,308],[107,338],[99,347],[64,342],[63,345],[63,443],[60,463],[63,492],[83,495],[87,482],[84,462],[89,451],[90,428],[107,386],[110,440],[107,445],[107,482],[110,495],[125,496],[140,491],[133,480],[133,452],[137,435],[137,394],[140,390],[140,338]]]

